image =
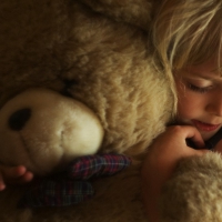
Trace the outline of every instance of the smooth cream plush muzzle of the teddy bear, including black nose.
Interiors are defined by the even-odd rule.
[[[41,176],[95,154],[103,140],[103,128],[88,107],[41,88],[9,100],[0,122],[0,162],[26,165]]]

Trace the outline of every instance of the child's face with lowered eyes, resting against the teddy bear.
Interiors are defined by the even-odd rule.
[[[204,140],[222,127],[222,77],[216,61],[189,67],[175,73],[178,122],[194,125]]]

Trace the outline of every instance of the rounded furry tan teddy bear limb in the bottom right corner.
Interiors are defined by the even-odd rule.
[[[222,221],[221,154],[209,152],[180,161],[163,186],[160,210],[161,222]]]

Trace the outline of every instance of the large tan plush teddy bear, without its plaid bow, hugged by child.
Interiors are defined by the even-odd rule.
[[[157,3],[154,0],[0,2],[1,144],[10,142],[9,150],[20,148],[23,139],[18,131],[23,127],[28,131],[22,138],[37,144],[29,157],[19,150],[8,152],[2,145],[0,161],[27,164],[44,180],[51,172],[63,172],[70,161],[88,154],[114,153],[131,160],[121,172],[93,179],[93,196],[78,204],[18,209],[29,184],[9,186],[0,192],[0,221],[148,221],[140,168],[153,139],[172,120],[175,103],[168,77],[157,68],[149,38]],[[36,89],[37,99],[29,100],[29,93]],[[50,91],[49,99],[41,95],[46,90]],[[56,105],[60,99],[67,101],[68,108],[63,108],[63,102],[60,108]],[[31,109],[20,107],[27,100],[37,102],[37,110],[43,109],[42,115],[38,115],[41,121],[36,120],[33,125],[29,125]],[[14,124],[18,115],[23,119]],[[47,132],[41,130],[41,122],[46,122]],[[10,134],[6,128],[17,134]],[[56,129],[59,137],[53,141]],[[65,138],[68,153],[61,158],[65,148],[59,147],[63,141],[62,129],[74,133],[74,138]],[[78,148],[78,142],[83,142],[80,147],[85,145],[85,152]],[[43,143],[53,147],[47,147],[46,152]],[[162,191],[162,221],[220,221],[221,169],[221,157],[213,152],[181,161]]]

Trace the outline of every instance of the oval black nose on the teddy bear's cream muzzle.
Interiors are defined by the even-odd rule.
[[[9,118],[8,123],[9,123],[10,129],[13,131],[22,130],[22,128],[26,125],[30,117],[31,117],[31,109],[29,108],[16,111]]]

